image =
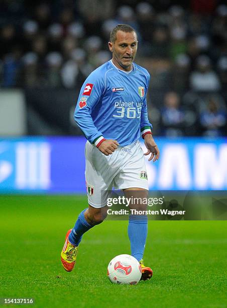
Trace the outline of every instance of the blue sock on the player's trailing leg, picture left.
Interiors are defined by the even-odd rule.
[[[93,225],[90,225],[85,217],[84,217],[84,212],[87,208],[85,208],[78,216],[76,223],[69,235],[69,242],[72,245],[78,246],[81,239],[82,235],[87,232],[90,228],[93,227]]]

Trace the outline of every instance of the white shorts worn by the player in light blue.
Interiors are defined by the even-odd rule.
[[[139,141],[119,146],[109,156],[105,156],[95,145],[87,141],[85,159],[88,204],[93,207],[100,208],[106,205],[112,187],[138,187],[148,190],[144,153]]]

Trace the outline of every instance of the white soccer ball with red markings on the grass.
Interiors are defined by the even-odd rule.
[[[137,284],[142,276],[142,269],[133,256],[119,255],[109,262],[107,275],[112,283]]]

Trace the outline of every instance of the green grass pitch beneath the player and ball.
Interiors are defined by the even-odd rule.
[[[226,307],[227,221],[149,221],[150,281],[110,284],[111,258],[130,254],[127,221],[104,221],[83,237],[73,272],[60,252],[85,196],[0,196],[0,297],[36,307]],[[30,305],[27,305],[30,306]]]

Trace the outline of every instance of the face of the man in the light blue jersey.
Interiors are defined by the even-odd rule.
[[[112,62],[118,68],[131,70],[137,53],[137,35],[133,32],[118,31],[116,41],[108,42],[109,50],[112,52]]]

